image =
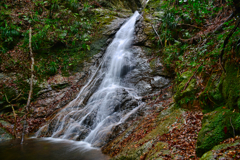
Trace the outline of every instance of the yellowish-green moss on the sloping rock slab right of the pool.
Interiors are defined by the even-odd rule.
[[[140,156],[144,155],[145,153],[148,153],[148,157],[146,157],[146,159],[154,159],[158,157],[159,152],[170,154],[170,151],[165,149],[168,148],[167,143],[154,142],[154,139],[160,135],[168,133],[169,130],[171,130],[171,127],[169,126],[174,124],[176,121],[180,122],[181,124],[184,123],[183,119],[180,121],[176,119],[176,117],[183,117],[181,116],[183,113],[183,109],[176,108],[174,105],[162,111],[155,120],[155,129],[151,130],[142,139],[139,139],[138,141],[129,141],[126,146],[121,146],[121,152],[113,159],[139,159]],[[142,131],[141,129],[137,129],[139,127],[139,124],[141,124],[141,121],[139,121],[139,123],[133,124],[126,131],[124,131],[121,136],[117,137],[114,141],[108,144],[106,149],[104,149],[104,153],[108,153],[109,151],[114,150],[115,147],[118,147],[121,141],[127,138],[130,133]],[[181,127],[181,124],[179,124],[179,127]],[[134,147],[136,145],[140,147]],[[153,145],[154,147],[152,147]]]

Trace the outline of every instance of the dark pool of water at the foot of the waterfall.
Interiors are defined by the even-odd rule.
[[[27,139],[0,143],[0,160],[107,160],[98,148],[85,142],[55,138]]]

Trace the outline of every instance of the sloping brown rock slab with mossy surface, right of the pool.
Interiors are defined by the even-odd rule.
[[[142,155],[155,153],[154,150],[161,150],[165,154],[170,154],[170,150],[167,149],[168,144],[158,142],[157,137],[173,129],[169,126],[177,123],[176,116],[181,117],[178,127],[183,125],[184,111],[181,109],[174,110],[173,108],[171,106],[163,111],[164,107],[158,104],[157,108],[151,108],[155,112],[151,111],[149,112],[151,114],[145,116],[138,115],[138,117],[133,118],[134,122],[132,124],[125,124],[125,126],[122,124],[116,127],[115,133],[118,136],[102,148],[103,153],[114,157],[113,159],[140,159]],[[127,129],[122,130],[124,127]],[[147,157],[147,159],[162,158],[158,154],[159,152],[156,155],[149,154],[150,157]]]

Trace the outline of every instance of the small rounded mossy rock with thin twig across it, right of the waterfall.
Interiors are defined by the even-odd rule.
[[[195,99],[195,94],[197,93],[195,78],[192,78],[188,83],[189,79],[192,77],[193,73],[191,71],[186,71],[181,75],[181,83],[177,86],[177,91],[174,95],[174,100],[178,106],[183,106]],[[187,88],[184,90],[185,85],[188,83]]]

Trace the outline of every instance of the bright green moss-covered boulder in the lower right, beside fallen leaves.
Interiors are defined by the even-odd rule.
[[[234,133],[233,133],[234,130]],[[197,156],[202,156],[223,140],[240,134],[240,114],[222,107],[203,117],[198,134]]]

